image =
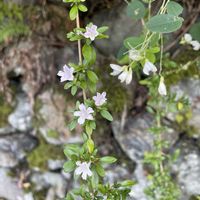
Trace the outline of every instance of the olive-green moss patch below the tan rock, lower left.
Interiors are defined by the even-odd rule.
[[[48,144],[42,136],[39,137],[39,146],[33,150],[27,157],[31,168],[37,167],[41,171],[48,169],[48,160],[65,159],[63,150],[60,146]]]

